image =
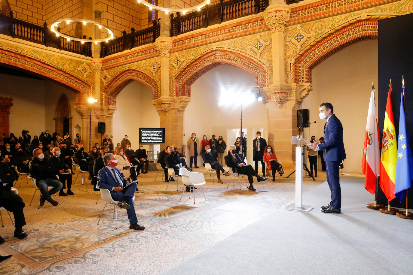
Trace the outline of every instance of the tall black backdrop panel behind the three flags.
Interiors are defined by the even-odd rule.
[[[410,137],[410,145],[413,146],[413,14],[396,16],[379,20],[379,129],[383,134],[383,123],[386,112],[387,92],[389,82],[392,79],[393,92],[393,116],[396,133],[399,132],[401,80],[404,75],[406,87],[406,124]],[[399,137],[397,135],[397,137]],[[409,190],[409,208],[413,208],[413,190]],[[379,187],[377,192],[378,202],[387,205],[387,199]],[[394,199],[391,205],[404,207],[406,202]]]

